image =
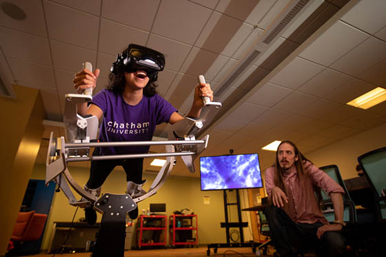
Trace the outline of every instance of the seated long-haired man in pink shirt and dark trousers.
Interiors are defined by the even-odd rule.
[[[316,250],[318,256],[339,256],[345,251],[341,233],[343,188],[299,152],[283,141],[276,163],[265,170],[265,187],[271,203],[264,213],[274,247],[281,257],[297,256],[295,249]],[[335,220],[329,224],[321,207],[324,189],[332,199]]]

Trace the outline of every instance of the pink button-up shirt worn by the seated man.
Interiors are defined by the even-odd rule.
[[[288,204],[283,209],[296,223],[323,223],[328,224],[327,219],[318,207],[313,185],[321,187],[328,194],[343,193],[343,187],[338,185],[330,176],[309,161],[304,163],[305,182],[301,185],[296,167],[283,174],[283,183],[287,192]],[[265,189],[268,197],[271,197],[272,188],[275,187],[276,172],[274,167],[265,170]]]

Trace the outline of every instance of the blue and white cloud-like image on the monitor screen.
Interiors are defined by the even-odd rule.
[[[263,187],[258,154],[200,157],[201,190]]]

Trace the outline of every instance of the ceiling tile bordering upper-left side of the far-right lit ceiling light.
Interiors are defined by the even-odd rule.
[[[352,79],[341,84],[338,88],[332,90],[332,92],[325,94],[323,98],[345,104],[374,88],[376,88],[375,85],[358,79]]]

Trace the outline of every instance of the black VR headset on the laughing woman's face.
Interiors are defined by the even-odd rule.
[[[142,45],[130,44],[127,51],[116,56],[116,61],[112,63],[110,71],[117,74],[120,69],[125,72],[144,70],[150,82],[154,82],[158,79],[158,72],[161,72],[163,68],[165,68],[165,56],[161,52]]]

